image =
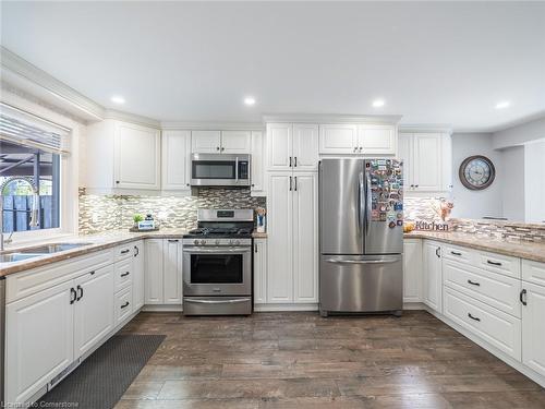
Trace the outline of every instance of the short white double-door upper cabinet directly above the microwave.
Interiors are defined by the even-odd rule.
[[[251,131],[192,131],[194,154],[250,154]]]

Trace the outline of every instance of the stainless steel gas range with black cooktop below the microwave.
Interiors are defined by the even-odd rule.
[[[198,209],[183,237],[184,315],[252,313],[252,209]]]

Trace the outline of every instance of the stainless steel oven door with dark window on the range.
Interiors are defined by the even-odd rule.
[[[184,296],[250,296],[251,246],[183,249]]]

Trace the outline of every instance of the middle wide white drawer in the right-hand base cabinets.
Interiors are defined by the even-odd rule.
[[[520,317],[521,281],[455,261],[443,262],[445,285],[491,306]]]

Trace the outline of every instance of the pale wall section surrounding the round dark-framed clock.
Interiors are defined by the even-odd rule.
[[[486,156],[496,168],[496,180],[489,188],[482,191],[464,188],[458,176],[463,159],[473,155]],[[501,159],[501,153],[493,148],[491,133],[452,134],[452,199],[455,201],[452,217],[477,219],[485,216],[502,216],[504,167]]]

